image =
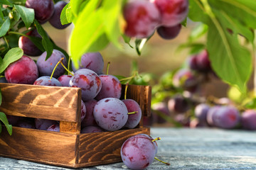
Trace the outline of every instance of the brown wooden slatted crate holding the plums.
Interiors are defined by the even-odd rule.
[[[124,86],[123,86],[124,88]],[[60,132],[13,127],[0,135],[0,156],[43,164],[79,168],[121,162],[122,143],[132,135],[145,133],[142,120],[132,130],[80,134],[81,90],[70,87],[0,84],[6,115],[60,121]],[[127,98],[150,114],[151,87],[129,85]],[[4,126],[3,126],[4,128]]]

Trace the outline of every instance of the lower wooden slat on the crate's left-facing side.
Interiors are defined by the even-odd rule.
[[[13,127],[0,135],[0,155],[45,164],[75,166],[78,157],[78,135],[46,130]]]

